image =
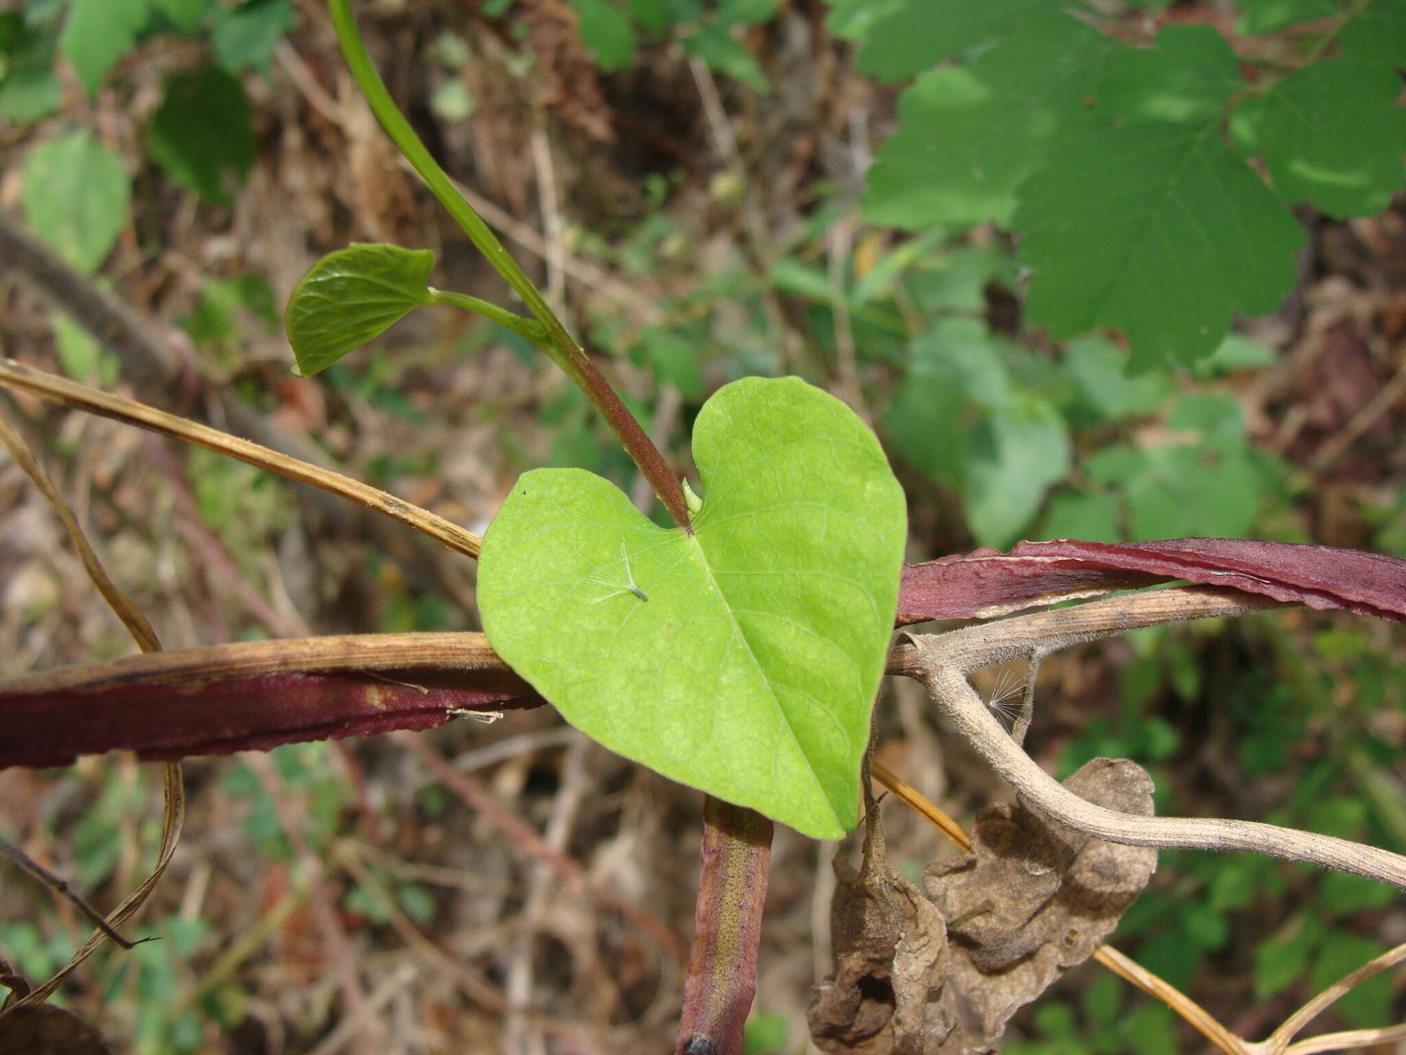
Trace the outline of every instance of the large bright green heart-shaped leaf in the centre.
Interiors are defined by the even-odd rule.
[[[610,750],[838,838],[858,821],[903,490],[865,423],[797,378],[718,390],[693,460],[693,535],[582,470],[523,474],[484,539],[484,629]]]

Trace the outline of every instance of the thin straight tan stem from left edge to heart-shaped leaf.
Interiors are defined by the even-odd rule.
[[[44,399],[72,407],[73,409],[135,425],[184,443],[194,443],[195,446],[238,459],[257,468],[277,473],[299,484],[316,487],[357,502],[367,509],[384,513],[394,520],[399,520],[451,550],[470,557],[478,557],[478,550],[482,544],[479,536],[464,530],[443,516],[432,513],[429,509],[422,509],[412,502],[406,502],[404,498],[396,498],[340,473],[333,473],[330,468],[301,461],[259,443],[212,429],[208,425],[157,411],[155,407],[148,407],[135,399],[90,388],[65,377],[17,363],[13,359],[0,359],[0,385],[30,392],[31,395],[38,395]]]

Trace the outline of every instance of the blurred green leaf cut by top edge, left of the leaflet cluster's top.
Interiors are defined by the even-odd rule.
[[[869,27],[859,69],[904,80],[1059,7],[1054,0],[907,0]]]

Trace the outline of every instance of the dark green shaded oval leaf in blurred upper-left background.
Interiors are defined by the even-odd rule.
[[[146,141],[172,180],[212,205],[228,205],[257,152],[243,84],[218,66],[173,73]]]

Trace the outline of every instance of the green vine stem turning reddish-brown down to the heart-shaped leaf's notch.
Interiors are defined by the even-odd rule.
[[[375,72],[375,66],[371,65],[371,56],[367,55],[366,45],[361,42],[356,17],[352,14],[350,0],[328,0],[328,6],[332,11],[332,25],[336,30],[342,55],[346,58],[347,68],[352,70],[352,76],[356,77],[361,94],[371,106],[371,113],[375,114],[396,149],[405,155],[406,160],[420,174],[420,179],[425,180],[434,197],[439,198],[440,204],[449,210],[449,214],[454,217],[454,221],[468,235],[468,241],[503,276],[513,291],[522,297],[523,304],[527,305],[527,309],[531,311],[533,316],[541,325],[544,339],[534,339],[527,333],[523,333],[523,336],[541,347],[557,366],[567,371],[567,376],[575,381],[581,391],[586,394],[586,398],[620,439],[626,453],[654,487],[654,492],[669,511],[669,516],[673,518],[673,522],[679,528],[688,529],[689,508],[683,501],[683,488],[679,485],[679,478],[669,471],[658,447],[645,435],[634,415],[620,402],[620,397],[616,395],[606,378],[596,370],[581,345],[567,332],[567,328],[557,318],[531,279],[517,266],[517,262],[503,248],[503,243],[498,241],[498,236],[488,228],[488,224],[474,211],[474,207],[454,188],[453,181],[430,156],[430,152],[420,142],[415,129],[411,128],[411,122],[396,108],[385,83]],[[443,293],[436,294],[437,300],[446,297],[447,294]],[[485,301],[479,301],[478,298],[465,298],[465,301],[471,301],[472,304],[441,300],[441,302],[454,302],[458,307],[470,308],[470,311],[486,314],[484,311]],[[512,319],[519,318],[506,311],[502,314]],[[502,325],[515,332],[522,332],[516,328],[516,324],[509,325],[496,315],[489,315],[489,318],[502,322]]]

